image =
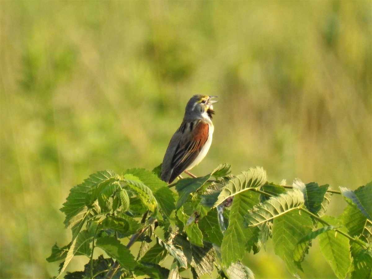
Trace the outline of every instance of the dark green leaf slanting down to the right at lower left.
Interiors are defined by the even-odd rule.
[[[137,265],[129,249],[121,244],[119,240],[115,239],[115,237],[100,237],[96,241],[96,246],[105,251],[108,256],[116,259],[125,270],[133,270]]]

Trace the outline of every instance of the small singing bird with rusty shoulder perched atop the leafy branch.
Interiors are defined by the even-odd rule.
[[[217,96],[194,95],[187,102],[180,128],[171,138],[161,167],[161,179],[171,183],[183,171],[199,164],[212,143],[214,114],[211,100]]]

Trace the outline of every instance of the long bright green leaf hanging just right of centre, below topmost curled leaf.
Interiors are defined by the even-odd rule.
[[[259,228],[243,227],[244,215],[259,203],[259,193],[253,191],[240,192],[232,202],[229,225],[221,244],[222,263],[225,267],[241,260],[258,241]]]

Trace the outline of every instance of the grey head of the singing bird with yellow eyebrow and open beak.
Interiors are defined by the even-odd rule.
[[[209,118],[214,114],[213,104],[218,101],[212,100],[217,96],[194,95],[186,105],[185,118]]]

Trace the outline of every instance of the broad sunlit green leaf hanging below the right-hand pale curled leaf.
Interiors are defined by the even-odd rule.
[[[297,190],[298,191],[298,190]],[[307,243],[299,246],[297,243],[304,236],[312,231],[312,220],[307,215],[298,210],[286,211],[285,214],[277,215],[273,223],[273,243],[275,254],[281,257],[288,269],[295,274],[297,269],[301,269],[300,263],[294,260],[302,260],[304,253],[307,252]]]

